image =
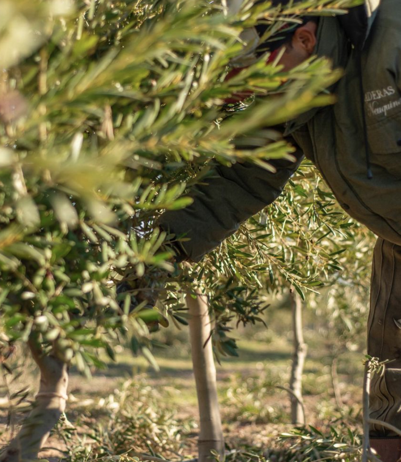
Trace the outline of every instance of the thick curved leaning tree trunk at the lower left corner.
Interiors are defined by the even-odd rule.
[[[68,365],[55,356],[43,355],[32,341],[32,356],[40,369],[39,391],[33,409],[21,429],[0,456],[1,462],[29,462],[49,437],[65,410],[68,387]]]

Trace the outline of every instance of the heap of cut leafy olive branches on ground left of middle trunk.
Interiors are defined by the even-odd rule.
[[[177,419],[168,396],[169,390],[157,392],[142,376],[135,382],[125,381],[113,394],[93,400],[86,408],[89,413],[81,414],[74,425],[64,422],[56,429],[67,446],[63,460],[128,462],[140,453],[180,456],[185,434],[196,424],[192,419]],[[79,410],[80,403],[75,407]]]

